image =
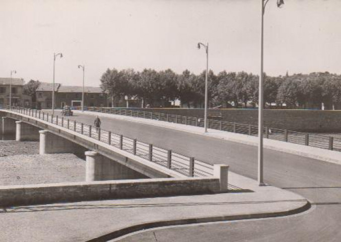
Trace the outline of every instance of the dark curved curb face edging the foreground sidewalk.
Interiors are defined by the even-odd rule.
[[[127,235],[132,232],[137,232],[144,229],[157,228],[157,227],[165,227],[165,226],[174,226],[174,225],[185,225],[185,224],[195,224],[195,223],[208,223],[208,222],[222,222],[222,221],[232,221],[232,220],[242,220],[242,219],[257,219],[257,218],[272,218],[272,217],[281,217],[294,215],[298,213],[302,213],[311,208],[311,203],[306,200],[305,205],[295,208],[288,211],[280,211],[280,212],[270,212],[270,213],[253,213],[253,214],[241,214],[241,215],[227,215],[227,216],[216,216],[216,217],[201,217],[201,218],[189,218],[189,219],[178,219],[178,220],[167,220],[167,221],[155,221],[143,224],[137,224],[133,226],[129,226],[126,228],[122,228],[111,233],[107,233],[101,235],[96,238],[92,238],[90,240],[86,240],[86,242],[105,242],[108,240],[112,240],[118,238],[123,235]]]

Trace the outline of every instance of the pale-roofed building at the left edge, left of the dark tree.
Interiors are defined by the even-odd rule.
[[[12,105],[23,106],[30,103],[30,97],[24,96],[24,79],[12,78]],[[11,78],[0,78],[0,105],[10,105]]]

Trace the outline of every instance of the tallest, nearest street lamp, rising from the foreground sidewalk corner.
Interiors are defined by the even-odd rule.
[[[263,180],[263,34],[264,34],[264,12],[269,0],[261,0],[261,36],[260,36],[260,75],[259,75],[259,96],[258,96],[258,183],[264,186]],[[277,7],[281,8],[284,0],[277,0]]]

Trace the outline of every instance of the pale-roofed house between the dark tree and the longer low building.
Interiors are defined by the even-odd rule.
[[[36,89],[36,106],[38,109],[52,108],[52,86],[52,83],[39,83],[39,86]],[[56,95],[59,86],[59,83],[54,84],[54,95]]]

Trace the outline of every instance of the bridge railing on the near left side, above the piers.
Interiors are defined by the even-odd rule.
[[[49,122],[53,125],[60,126],[65,129],[72,130],[81,135],[88,136],[92,139],[98,140],[105,144],[109,144],[121,150],[127,151],[133,155],[139,156],[146,160],[152,161],[159,165],[165,166],[169,169],[176,170],[187,176],[212,176],[213,165],[194,159],[193,157],[187,157],[179,153],[173,152],[172,150],[166,150],[160,147],[156,147],[153,144],[147,144],[137,139],[125,137],[121,134],[115,134],[111,131],[103,129],[96,129],[91,125],[87,125],[64,116],[52,115],[49,112],[43,112],[41,110],[23,108],[23,107],[9,107],[5,109],[11,110],[20,114],[32,116],[45,122]],[[113,109],[102,108],[102,112],[111,113]],[[132,110],[119,110],[116,113],[121,115],[141,115],[136,111]],[[144,113],[146,118],[155,118],[155,113]],[[158,115],[157,115],[158,116]],[[159,116],[158,116],[159,117]],[[160,114],[161,117],[161,114]],[[233,188],[232,188],[233,189]]]

